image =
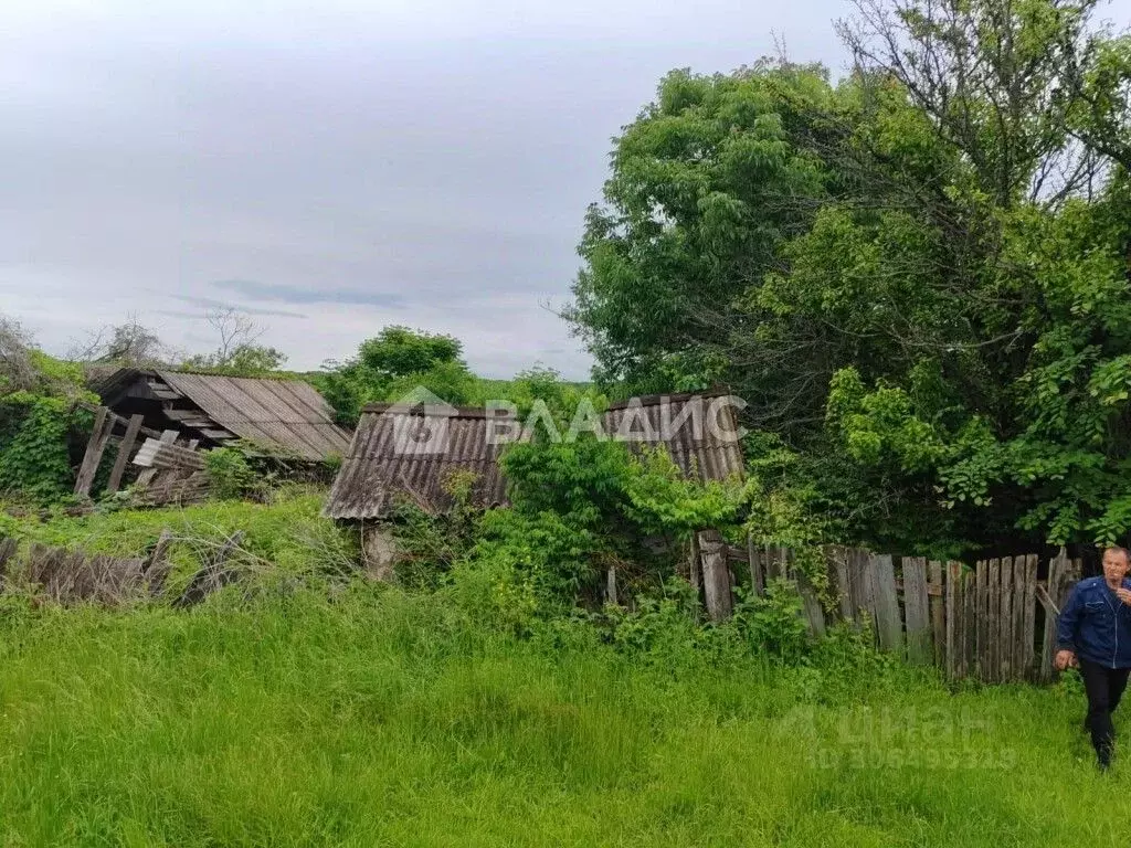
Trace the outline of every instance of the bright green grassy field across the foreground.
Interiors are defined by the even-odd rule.
[[[1071,682],[515,640],[354,587],[0,615],[5,846],[1125,842]]]

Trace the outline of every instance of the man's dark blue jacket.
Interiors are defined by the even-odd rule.
[[[1123,587],[1131,589],[1131,579],[1124,579]],[[1131,606],[1104,578],[1081,580],[1061,609],[1056,647],[1106,668],[1131,668]]]

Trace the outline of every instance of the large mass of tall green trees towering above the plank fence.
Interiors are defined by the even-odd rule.
[[[795,457],[769,511],[838,540],[1125,540],[1131,50],[1095,6],[867,0],[836,86],[668,75],[587,218],[597,375],[728,383]]]

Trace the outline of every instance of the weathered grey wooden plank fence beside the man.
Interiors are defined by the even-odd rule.
[[[787,548],[725,546],[724,556],[724,579],[733,585],[734,571],[748,569],[756,594],[775,578],[793,580],[814,633],[837,621],[867,621],[882,650],[936,664],[951,680],[986,683],[1052,680],[1056,620],[1082,571],[1063,548],[1047,563],[1027,554],[966,565],[829,547],[820,591]],[[706,555],[699,559],[706,582]]]

